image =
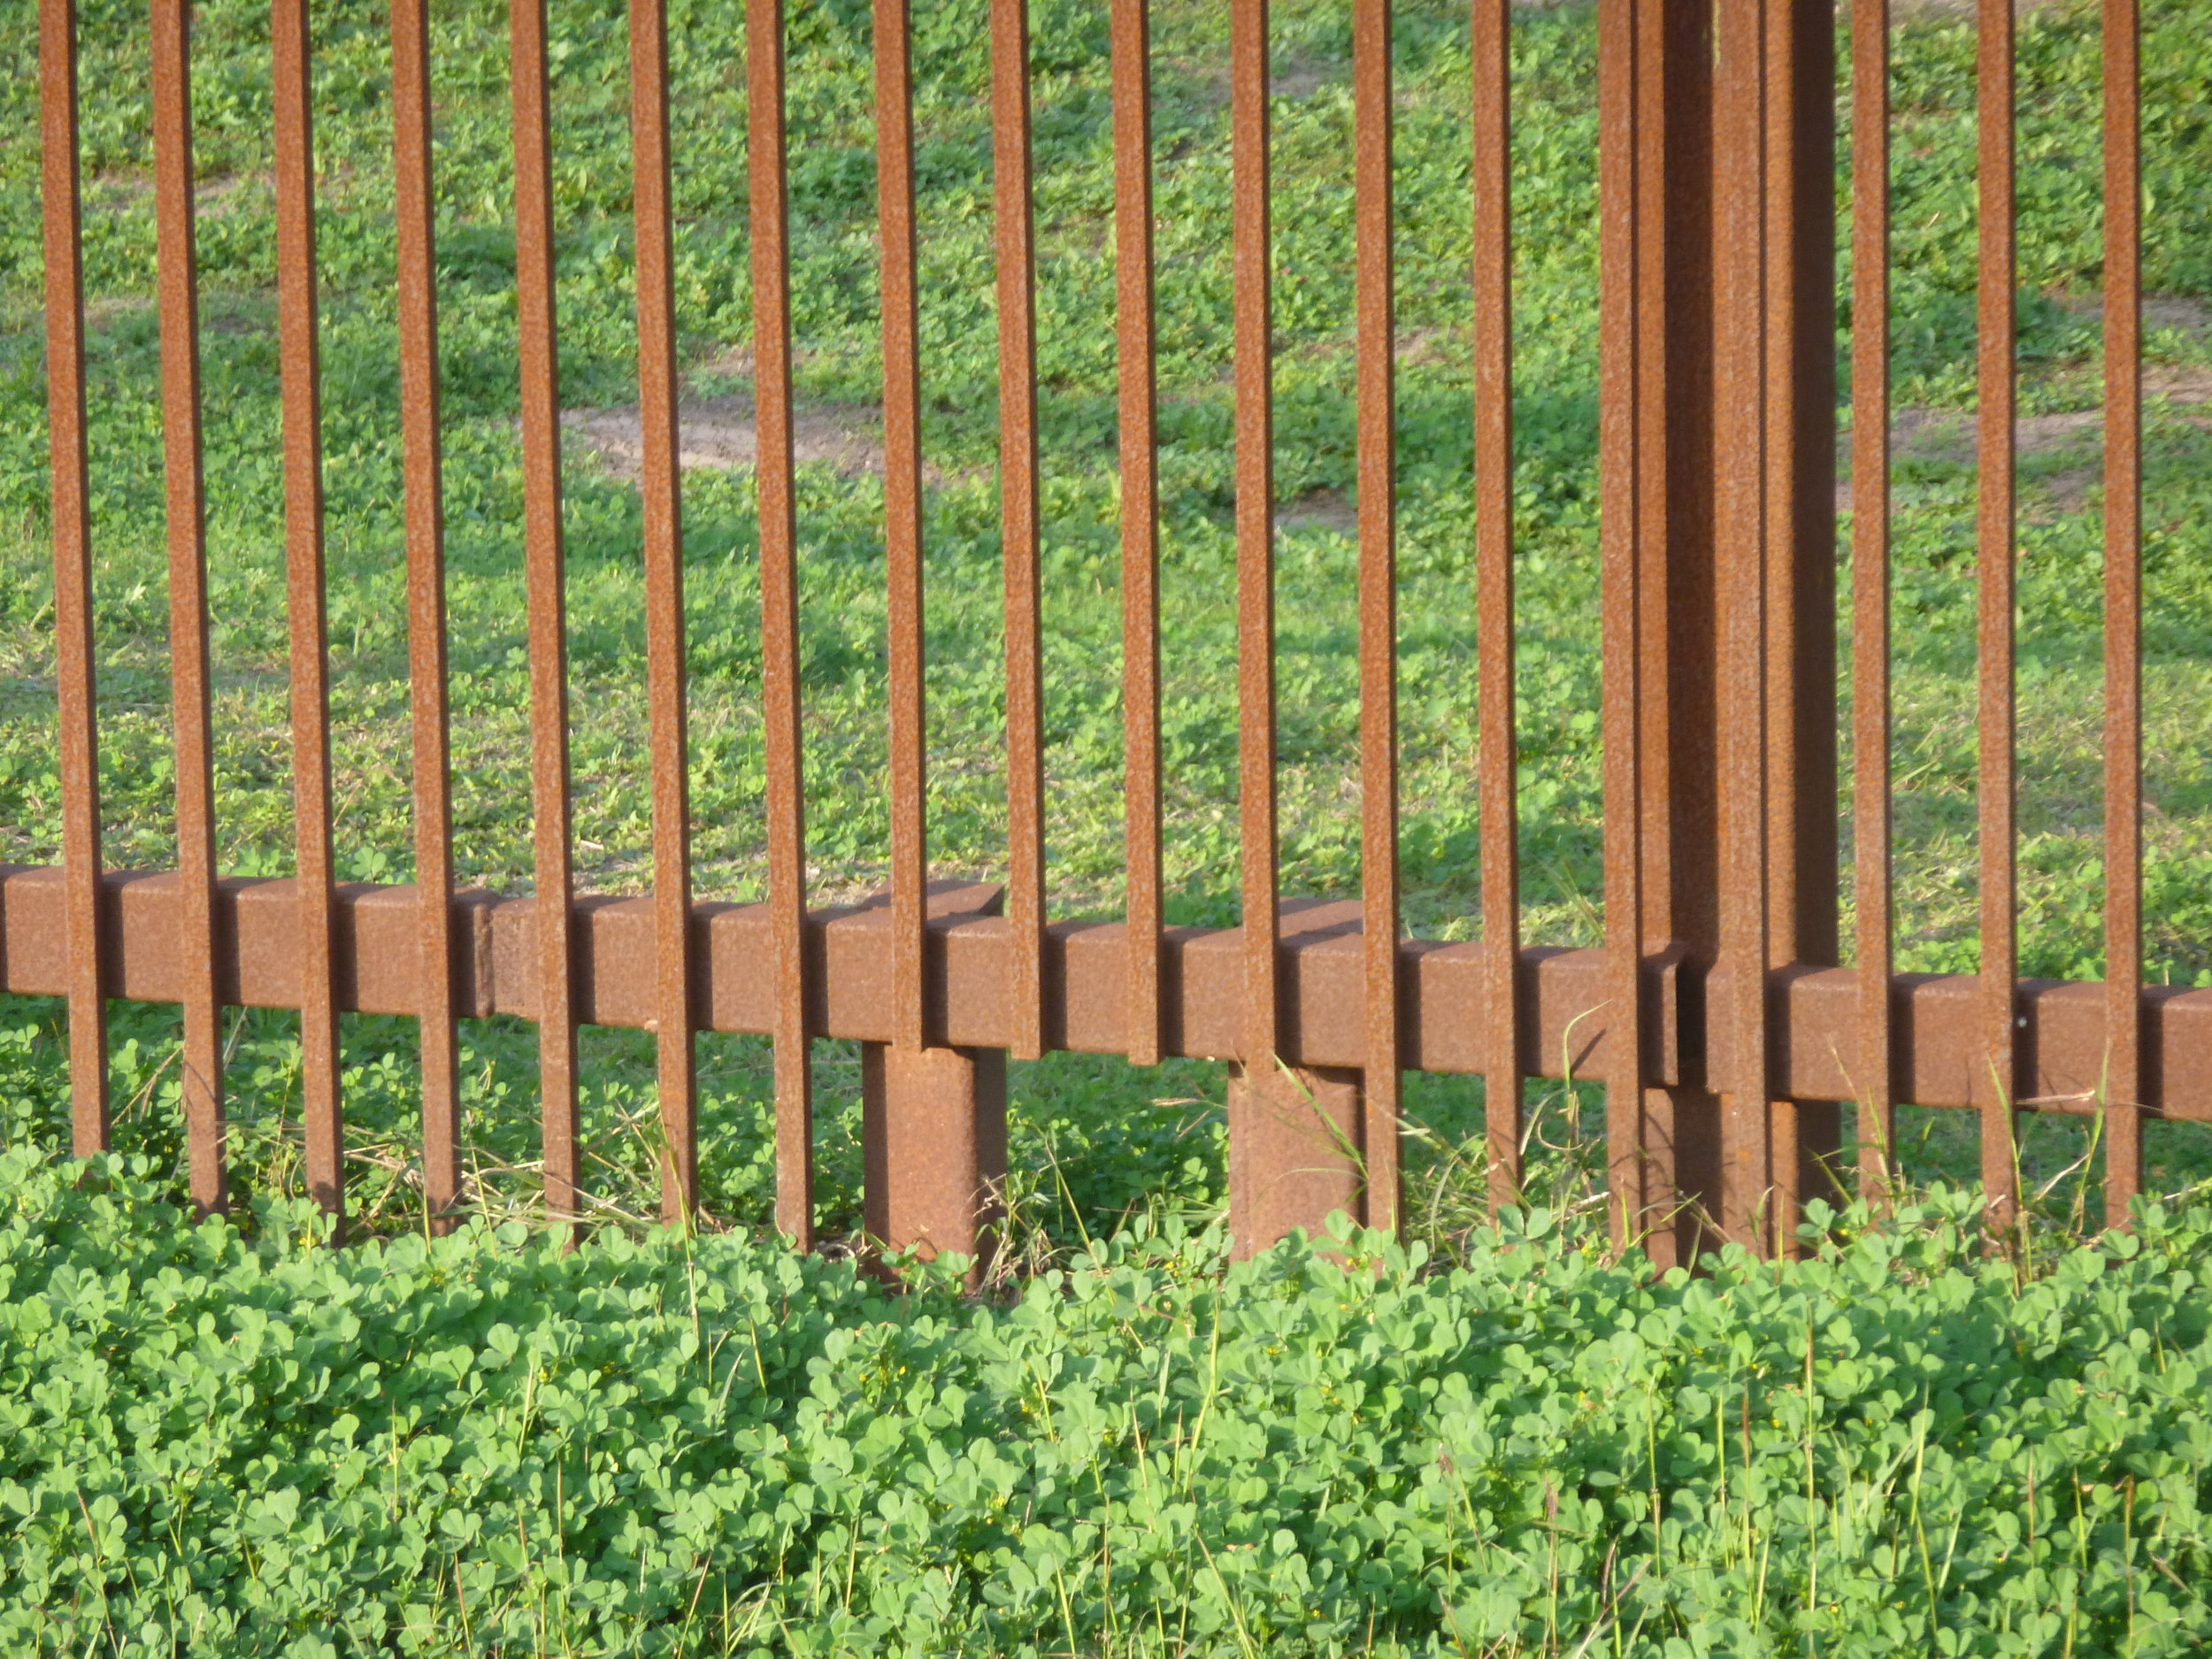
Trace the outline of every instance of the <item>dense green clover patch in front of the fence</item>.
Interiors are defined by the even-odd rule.
[[[1018,1294],[741,1237],[327,1250],[0,1155],[0,1644],[2192,1655],[2212,1210],[1655,1279],[1130,1228]],[[1858,1219],[1863,1221],[1863,1217]]]

